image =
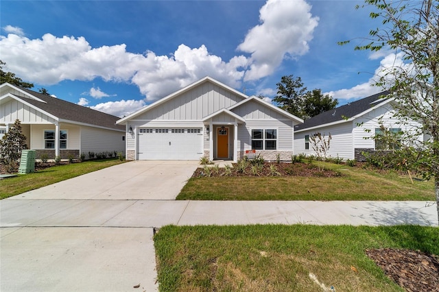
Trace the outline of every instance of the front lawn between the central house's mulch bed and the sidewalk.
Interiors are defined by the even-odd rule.
[[[215,177],[191,178],[177,199],[192,200],[371,200],[431,201],[434,183],[410,181],[408,175],[378,173],[346,165],[325,165],[340,177]]]

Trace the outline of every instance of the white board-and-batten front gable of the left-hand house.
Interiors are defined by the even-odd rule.
[[[55,119],[43,114],[42,112],[31,108],[15,99],[10,100],[0,106],[0,123],[14,123],[19,119],[21,123],[33,124],[54,124]]]

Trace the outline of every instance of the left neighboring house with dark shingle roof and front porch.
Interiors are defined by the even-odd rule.
[[[0,136],[19,119],[27,147],[36,158],[62,159],[88,151],[125,151],[125,128],[116,125],[119,117],[72,104],[49,95],[13,86],[0,85]]]

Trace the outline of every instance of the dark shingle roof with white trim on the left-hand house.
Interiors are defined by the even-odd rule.
[[[4,86],[4,84],[2,85]],[[14,99],[19,100],[36,110],[43,111],[58,121],[103,127],[111,130],[125,130],[125,127],[116,125],[116,121],[119,117],[113,116],[112,114],[106,114],[105,112],[99,112],[99,110],[93,110],[78,104],[73,104],[63,99],[43,95],[42,93],[36,93],[27,88],[12,86],[11,84],[7,85],[19,90],[21,93],[25,93],[25,95],[29,95],[28,97],[23,97],[21,95],[9,93]]]

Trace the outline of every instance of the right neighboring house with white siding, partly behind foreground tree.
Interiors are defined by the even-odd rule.
[[[362,152],[379,149],[379,142],[372,139],[380,134],[379,122],[393,132],[410,132],[418,123],[407,125],[394,118],[394,99],[385,98],[387,92],[378,93],[351,102],[334,110],[318,114],[297,125],[294,134],[294,153],[315,155],[309,137],[320,133],[327,140],[331,134],[329,156],[344,159],[364,160]],[[418,136],[423,141],[423,135]]]

